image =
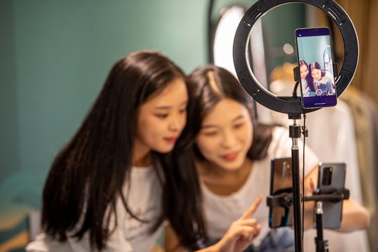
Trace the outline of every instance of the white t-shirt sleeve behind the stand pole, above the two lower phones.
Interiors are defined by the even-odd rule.
[[[283,127],[275,127],[272,134],[272,142],[268,149],[270,158],[291,157],[292,139],[289,137],[289,130]],[[299,147],[299,169],[303,169],[303,141],[298,139]],[[319,158],[305,145],[304,147],[304,175],[307,175],[319,164]]]

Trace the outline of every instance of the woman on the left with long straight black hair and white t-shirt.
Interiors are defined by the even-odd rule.
[[[166,219],[184,246],[197,248],[204,233],[197,173],[172,169],[167,158],[187,103],[186,77],[163,54],[144,50],[119,59],[51,166],[43,233],[26,250],[150,251]],[[256,223],[231,227],[215,248],[258,231]]]

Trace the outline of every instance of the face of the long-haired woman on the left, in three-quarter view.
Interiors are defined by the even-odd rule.
[[[186,84],[181,78],[153,94],[139,108],[135,144],[147,151],[170,152],[185,126],[187,101]]]

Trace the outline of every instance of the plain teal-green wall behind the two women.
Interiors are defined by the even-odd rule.
[[[215,10],[235,2],[218,1]],[[0,245],[9,236],[3,230],[40,209],[54,155],[119,57],[157,49],[186,73],[207,63],[207,7],[203,0],[0,1]],[[283,44],[294,32],[273,34]]]

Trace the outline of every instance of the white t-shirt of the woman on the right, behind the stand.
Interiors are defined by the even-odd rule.
[[[210,239],[221,238],[231,223],[240,218],[260,194],[262,194],[263,200],[252,218],[258,220],[258,223],[262,225],[262,229],[254,243],[258,245],[266,236],[269,232],[269,208],[266,206],[266,198],[270,195],[271,159],[291,157],[291,146],[292,140],[289,138],[288,130],[281,127],[274,128],[267,157],[253,162],[253,168],[245,183],[237,192],[229,196],[216,195],[201,182],[205,220]],[[299,140],[298,146],[299,168],[302,170],[303,142]],[[308,174],[318,163],[318,157],[306,147],[305,174]]]

